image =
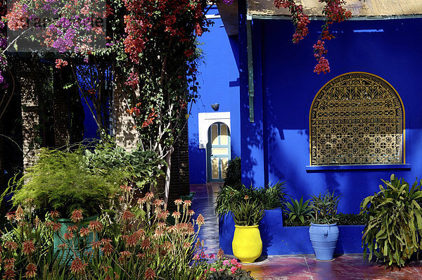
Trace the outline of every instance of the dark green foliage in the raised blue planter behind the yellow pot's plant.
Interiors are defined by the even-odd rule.
[[[278,182],[274,186],[267,185],[263,188],[241,185],[240,189],[223,186],[217,193],[215,214],[219,217],[228,214],[237,205],[245,201],[245,196],[249,198],[251,203],[255,201],[260,203],[265,210],[283,208],[287,197],[284,184],[285,182]]]

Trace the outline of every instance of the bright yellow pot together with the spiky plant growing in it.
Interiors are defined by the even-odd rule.
[[[234,219],[234,236],[231,246],[233,254],[241,262],[254,262],[262,253],[260,224],[264,217],[264,208],[257,201],[250,201],[248,196],[231,210]]]

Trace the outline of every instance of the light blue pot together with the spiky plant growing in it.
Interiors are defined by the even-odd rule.
[[[312,196],[312,219],[309,238],[315,251],[316,260],[333,260],[338,240],[335,215],[341,196],[326,191],[323,195]]]

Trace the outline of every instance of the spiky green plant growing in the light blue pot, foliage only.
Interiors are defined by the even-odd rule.
[[[334,196],[328,190],[321,195],[312,196],[312,218],[314,224],[334,224],[337,221],[337,207],[341,196]]]

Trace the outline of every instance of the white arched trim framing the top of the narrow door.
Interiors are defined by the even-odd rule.
[[[198,113],[199,148],[206,148],[208,144],[208,128],[215,123],[222,122],[230,127],[230,112]]]

